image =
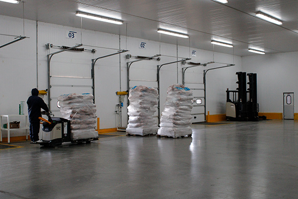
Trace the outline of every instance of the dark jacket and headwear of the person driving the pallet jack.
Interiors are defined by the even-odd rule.
[[[32,89],[32,96],[30,96],[27,100],[30,122],[39,122],[38,117],[41,117],[41,108],[49,112],[47,104],[44,102],[44,100],[38,97],[38,93],[39,92],[37,89]]]

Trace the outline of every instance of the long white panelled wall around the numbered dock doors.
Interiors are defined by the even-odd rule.
[[[22,35],[22,19],[0,16],[1,34]],[[38,26],[38,27],[37,27]],[[67,38],[69,31],[77,32],[77,39]],[[37,37],[36,37],[37,35]],[[80,36],[82,35],[82,37]],[[24,39],[17,43],[0,49],[0,114],[18,114],[18,104],[21,100],[26,101],[30,96],[32,88],[38,86],[39,90],[48,88],[47,84],[47,54],[60,50],[52,48],[49,51],[45,44],[51,43],[57,46],[74,46],[82,43],[85,49],[96,49],[96,53],[90,52],[63,52],[54,55],[51,61],[51,73],[56,75],[90,77],[91,59],[117,52],[116,49],[127,49],[129,52],[100,59],[95,65],[95,103],[97,106],[97,116],[100,117],[100,129],[116,127],[116,104],[118,96],[115,92],[127,90],[127,61],[126,54],[133,56],[153,56],[161,54],[161,60],[146,60],[136,62],[132,65],[130,79],[135,80],[156,80],[156,66],[163,63],[181,60],[181,58],[191,57],[192,62],[213,61],[213,52],[200,49],[190,49],[189,47],[176,46],[172,44],[160,43],[139,38],[131,38],[102,32],[81,30],[78,28],[48,24],[25,20]],[[13,37],[0,35],[0,44],[12,41]],[[146,42],[146,49],[141,49],[140,43]],[[160,48],[159,48],[160,47]],[[160,50],[159,50],[160,49]],[[178,52],[177,52],[178,49]],[[190,52],[196,50],[196,57],[190,56]],[[241,58],[231,55],[215,53],[214,61],[224,63],[235,63],[236,66],[226,69],[210,71],[207,74],[207,110],[210,114],[224,113],[225,90],[235,86],[235,72],[240,71]],[[37,67],[38,65],[38,67]],[[203,70],[222,66],[222,64],[208,65],[207,67],[196,67],[189,70],[192,74],[190,79],[203,81]],[[172,84],[182,83],[181,63],[163,66],[160,70],[160,104],[161,112],[166,98],[166,89]],[[178,71],[178,73],[177,73]],[[38,73],[38,81],[37,81]],[[195,75],[194,75],[195,74]],[[120,81],[121,77],[121,81]],[[77,83],[78,84],[78,83]],[[81,84],[81,83],[80,83]],[[130,86],[146,85],[157,87],[156,82],[131,82]],[[73,92],[83,92],[84,90],[59,90],[53,92],[53,98],[58,95]],[[89,92],[88,89],[86,89]],[[61,92],[60,94],[58,94]],[[47,97],[44,98],[47,101]],[[53,99],[56,100],[56,99]],[[55,102],[56,103],[56,102]],[[57,109],[54,102],[52,109]],[[25,107],[26,112],[27,107]],[[123,126],[127,124],[127,99],[123,107]],[[60,116],[59,112],[54,112]]]

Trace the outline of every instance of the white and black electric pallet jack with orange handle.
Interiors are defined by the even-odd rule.
[[[46,111],[42,111],[42,114],[48,116],[48,120],[39,117],[42,120],[42,142],[38,143],[45,147],[55,147],[62,145],[63,142],[72,143],[90,143],[92,140],[98,140],[98,138],[88,138],[73,140],[71,136],[71,121],[62,117],[51,117]]]

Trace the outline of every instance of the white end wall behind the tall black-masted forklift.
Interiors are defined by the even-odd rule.
[[[257,73],[260,112],[283,112],[283,93],[298,93],[297,63],[298,52],[242,57],[243,72]]]

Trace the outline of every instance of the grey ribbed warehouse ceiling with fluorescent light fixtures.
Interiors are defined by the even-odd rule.
[[[0,1],[0,14],[47,23],[121,34],[178,44],[191,48],[234,54],[256,55],[298,51],[298,0],[25,0]],[[83,11],[121,19],[122,25],[75,16]],[[275,25],[255,16],[262,11],[283,21]],[[178,38],[157,33],[168,29],[190,35]],[[1,33],[1,32],[0,32]],[[227,48],[211,44],[219,40]]]

